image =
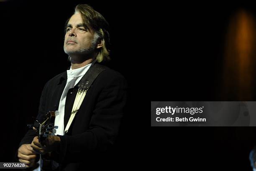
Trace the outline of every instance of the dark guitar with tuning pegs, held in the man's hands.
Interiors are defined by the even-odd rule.
[[[44,115],[44,121],[42,123],[39,123],[39,121],[36,120],[36,122],[39,123],[38,127],[36,128],[36,133],[39,139],[39,143],[41,143],[42,146],[45,146],[46,138],[49,135],[54,135],[54,133],[56,133],[56,128],[58,127],[54,126],[54,120],[55,116],[58,114],[59,111],[49,111]],[[33,129],[33,124],[28,124],[28,128]],[[40,154],[40,171],[51,171],[52,161],[50,156],[51,152]]]

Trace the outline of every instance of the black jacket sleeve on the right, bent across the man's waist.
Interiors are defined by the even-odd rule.
[[[123,116],[126,89],[127,83],[122,75],[112,78],[97,99],[89,130],[73,136],[58,135],[61,139],[59,163],[77,162],[82,153],[104,152],[113,145]]]

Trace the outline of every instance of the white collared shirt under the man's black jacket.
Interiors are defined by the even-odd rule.
[[[67,83],[59,101],[59,115],[55,117],[54,121],[54,126],[58,126],[55,135],[64,135],[64,112],[67,92],[70,88],[74,88],[74,86],[82,79],[83,75],[87,72],[92,63],[89,63],[82,68],[72,70],[70,67],[70,70],[67,70]]]

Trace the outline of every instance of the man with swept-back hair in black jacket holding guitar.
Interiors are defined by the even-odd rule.
[[[26,167],[36,168],[38,154],[51,152],[56,169],[83,170],[95,158],[103,159],[103,153],[113,145],[123,116],[126,82],[107,67],[95,78],[67,128],[77,100],[77,85],[92,66],[109,59],[108,44],[105,18],[89,5],[77,5],[67,20],[64,40],[71,68],[46,83],[37,116],[41,122],[48,111],[59,111],[54,121],[58,128],[44,145],[39,143],[35,128],[26,133],[18,149],[19,161]]]

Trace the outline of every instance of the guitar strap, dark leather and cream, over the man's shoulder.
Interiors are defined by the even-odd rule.
[[[94,82],[94,80],[97,78],[97,76],[103,71],[106,70],[107,67],[100,65],[98,63],[92,63],[92,65],[90,66],[89,70],[87,70],[87,72],[84,74],[84,76],[82,77],[82,79],[79,81],[78,83],[78,91],[77,91],[77,96],[74,100],[74,104],[73,104],[73,108],[72,108],[72,112],[71,115],[69,117],[69,121],[67,123],[67,126],[64,130],[64,135],[69,131],[69,127],[71,126],[74,117],[76,116],[83,100],[84,97],[87,93],[87,91],[89,90],[89,88],[91,87],[92,83]]]

